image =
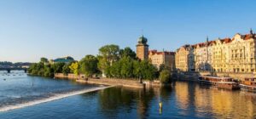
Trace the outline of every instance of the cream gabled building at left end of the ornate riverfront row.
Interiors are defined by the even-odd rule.
[[[175,54],[175,66],[178,71],[195,71],[194,49],[191,45],[178,48]]]

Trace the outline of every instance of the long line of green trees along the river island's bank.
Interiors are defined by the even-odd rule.
[[[165,71],[160,73],[160,71]],[[158,77],[168,78],[170,71],[164,66],[160,71],[148,60],[139,60],[131,48],[120,49],[117,45],[106,45],[99,49],[99,54],[86,55],[83,59],[69,64],[49,64],[48,59],[41,58],[39,63],[31,65],[28,72],[32,75],[53,77],[54,73],[84,74],[86,77],[102,76],[110,78],[136,78],[153,80]],[[161,75],[161,76],[160,76]]]

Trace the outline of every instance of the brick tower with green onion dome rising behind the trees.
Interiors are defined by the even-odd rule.
[[[137,42],[137,58],[141,60],[148,59],[148,39],[142,36],[138,38]]]

